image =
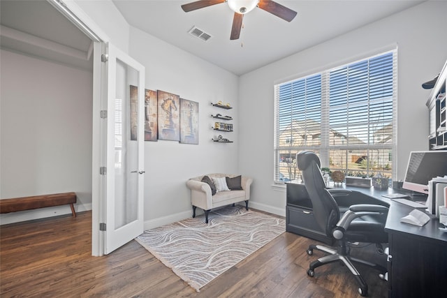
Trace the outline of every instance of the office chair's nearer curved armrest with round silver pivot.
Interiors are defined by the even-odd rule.
[[[349,207],[349,210],[343,214],[342,218],[340,218],[337,226],[332,231],[332,235],[335,237],[335,239],[342,239],[344,237],[344,232],[348,229],[349,225],[351,225],[351,221],[353,221],[354,219],[365,215],[386,214],[387,212],[388,208],[381,205],[352,205],[351,207]]]

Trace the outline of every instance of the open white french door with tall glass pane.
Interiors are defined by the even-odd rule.
[[[107,60],[107,61],[106,61]],[[104,253],[143,232],[145,68],[117,47],[108,45]],[[104,198],[105,197],[105,198]]]

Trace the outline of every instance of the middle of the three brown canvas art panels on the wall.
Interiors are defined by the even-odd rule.
[[[180,140],[180,96],[157,91],[159,140]]]

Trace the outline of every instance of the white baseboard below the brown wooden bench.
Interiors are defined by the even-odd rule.
[[[87,211],[91,210],[91,203],[75,204],[74,207],[76,212]],[[64,214],[71,214],[70,205],[66,204],[62,206],[11,212],[0,214],[0,225],[7,225],[8,223],[19,223],[20,221],[32,221],[34,219],[59,216]]]

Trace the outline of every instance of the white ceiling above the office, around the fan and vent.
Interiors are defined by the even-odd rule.
[[[141,29],[212,64],[242,75],[281,58],[388,17],[423,1],[415,0],[277,0],[298,12],[292,22],[261,8],[244,15],[239,40],[230,40],[233,10],[227,3],[185,13],[183,1],[114,0],[131,26]],[[213,37],[191,36],[196,26]]]

